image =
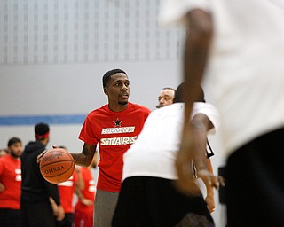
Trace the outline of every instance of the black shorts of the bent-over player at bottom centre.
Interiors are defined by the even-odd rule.
[[[112,225],[173,227],[189,213],[205,219],[209,223],[206,226],[214,226],[202,196],[188,197],[177,192],[171,180],[134,176],[122,184]]]

